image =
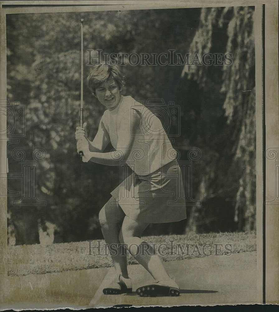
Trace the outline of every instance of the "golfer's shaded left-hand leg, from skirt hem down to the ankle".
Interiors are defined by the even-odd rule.
[[[117,203],[112,204],[115,202],[115,199],[111,197],[111,199],[105,204],[105,206],[101,209],[99,213],[99,221],[102,227],[102,233],[106,243],[108,244],[111,258],[113,265],[116,269],[116,274],[122,275],[124,278],[128,278],[128,271],[127,271],[127,255],[122,250],[122,246],[119,245],[113,246],[114,249],[111,250],[111,244],[120,244],[119,241],[119,232],[121,229],[122,222],[125,217],[125,213],[119,207]]]

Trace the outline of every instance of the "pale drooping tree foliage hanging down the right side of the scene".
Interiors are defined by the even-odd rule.
[[[233,202],[238,230],[255,229],[256,127],[254,7],[204,8],[190,46],[190,53],[230,53],[230,66],[185,66],[182,75],[194,79],[203,91],[204,111],[220,100],[227,126],[205,143],[215,161],[202,177],[203,197],[219,193]],[[220,106],[219,106],[220,107]],[[210,108],[212,111],[212,109]],[[210,122],[207,122],[210,124]],[[210,134],[206,132],[206,134]],[[217,140],[216,140],[217,138]],[[219,146],[221,145],[221,149]],[[210,152],[206,152],[210,155]],[[227,162],[226,160],[229,160]],[[228,175],[224,174],[224,165]],[[212,167],[211,167],[212,168]],[[206,169],[205,169],[206,170]],[[221,170],[223,173],[221,173]],[[225,178],[225,179],[224,179]],[[235,181],[237,179],[237,183]],[[212,182],[215,180],[215,183]],[[213,190],[212,185],[218,190]],[[193,213],[194,214],[194,213]],[[198,217],[198,216],[196,216]],[[194,222],[195,224],[195,222]]]

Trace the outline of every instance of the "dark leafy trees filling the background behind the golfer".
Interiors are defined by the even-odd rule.
[[[124,95],[174,101],[181,110],[175,147],[197,147],[186,220],[151,224],[146,235],[255,230],[254,7],[219,7],[7,15],[7,93],[25,107],[25,136],[8,144],[10,173],[21,172],[15,147],[41,147],[38,199],[46,206],[15,206],[8,197],[9,239],[40,243],[102,238],[98,212],[119,183],[119,169],[82,163],[75,128],[80,105],[80,19],[86,50],[106,53],[232,53],[231,66],[121,66]],[[84,66],[84,81],[90,66]],[[104,108],[84,87],[89,137]],[[21,124],[16,124],[22,127]],[[173,124],[173,131],[177,130]],[[110,147],[108,147],[108,150]],[[186,159],[182,154],[180,160]],[[8,177],[8,189],[21,180]],[[50,231],[50,228],[52,229]]]

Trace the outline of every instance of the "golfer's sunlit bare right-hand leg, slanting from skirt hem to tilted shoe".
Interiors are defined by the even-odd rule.
[[[147,226],[148,223],[125,216],[120,230],[120,241],[127,245],[132,256],[153,276],[154,280],[169,280],[170,277],[154,249],[140,238]]]

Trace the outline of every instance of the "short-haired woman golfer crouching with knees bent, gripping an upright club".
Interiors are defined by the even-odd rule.
[[[107,110],[92,142],[87,137],[86,123],[83,128],[77,127],[77,150],[83,151],[83,162],[108,166],[126,164],[132,169],[132,174],[111,192],[112,197],[99,213],[102,233],[116,270],[116,278],[103,293],[132,291],[124,246],[155,280],[139,287],[138,295],[178,296],[179,287],[165,271],[156,250],[141,239],[150,223],[186,218],[176,151],[160,120],[131,96],[121,95],[124,79],[117,65],[95,65],[87,77],[87,84]],[[103,153],[109,142],[114,150]],[[110,246],[114,246],[113,250]]]

